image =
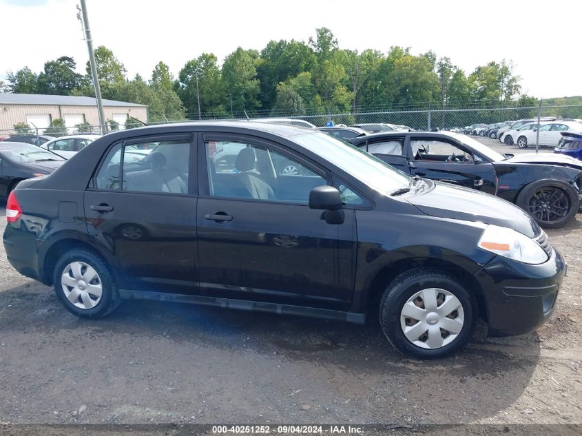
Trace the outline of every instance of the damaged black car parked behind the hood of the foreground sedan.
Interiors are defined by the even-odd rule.
[[[568,156],[499,154],[450,132],[393,132],[350,142],[406,174],[471,187],[515,203],[542,227],[563,227],[580,209],[582,163]]]

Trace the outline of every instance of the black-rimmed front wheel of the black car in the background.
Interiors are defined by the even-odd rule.
[[[554,196],[552,203],[550,190],[556,191],[557,194],[555,195],[557,196],[562,194],[563,198],[556,198]],[[554,207],[555,211],[553,213],[548,212],[548,214],[545,214],[543,212],[547,210],[543,209],[543,205],[541,205],[544,198],[545,203],[550,203],[550,207]],[[574,216],[576,216],[580,208],[580,198],[578,197],[576,189],[562,180],[537,180],[521,189],[515,204],[528,212],[541,227],[545,229],[559,229],[574,219]],[[566,207],[567,210],[555,209],[556,206]],[[557,214],[563,214],[563,216],[558,218]]]

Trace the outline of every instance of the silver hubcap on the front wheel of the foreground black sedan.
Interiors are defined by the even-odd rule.
[[[423,349],[438,349],[453,342],[464,321],[459,299],[439,288],[418,291],[408,298],[400,312],[404,336]]]

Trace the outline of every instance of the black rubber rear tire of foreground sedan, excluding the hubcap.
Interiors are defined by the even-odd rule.
[[[98,274],[99,282],[101,283],[102,295],[101,300],[98,301],[92,309],[80,309],[76,307],[65,295],[61,277],[67,269],[67,265],[72,262],[83,262],[92,267]],[[72,249],[59,258],[54,267],[53,287],[56,296],[63,303],[65,308],[81,318],[102,318],[109,315],[121,304],[121,298],[117,289],[117,284],[107,264],[92,251],[87,249]],[[80,300],[79,300],[80,302]]]

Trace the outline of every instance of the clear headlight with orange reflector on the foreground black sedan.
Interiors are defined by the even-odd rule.
[[[518,262],[535,265],[548,260],[548,255],[537,242],[506,227],[489,225],[477,245],[481,249]]]

